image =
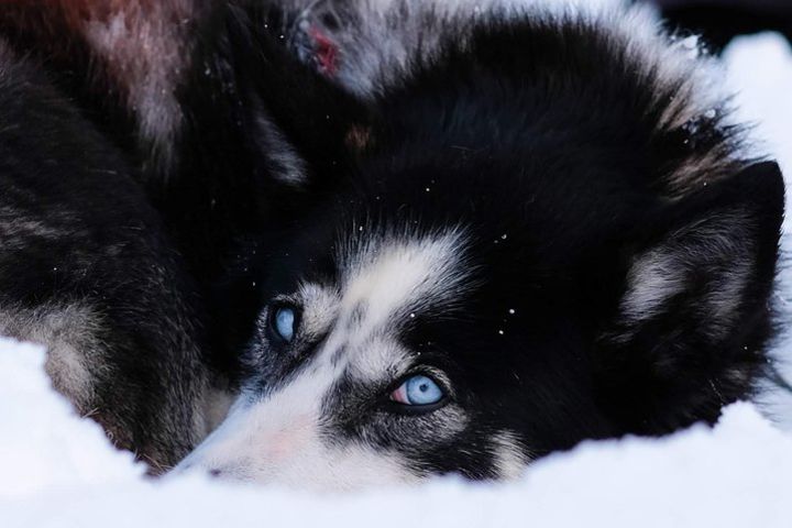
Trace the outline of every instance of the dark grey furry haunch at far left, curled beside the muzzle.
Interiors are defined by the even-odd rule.
[[[46,344],[81,414],[172,465],[208,428],[191,280],[121,152],[2,41],[0,105],[0,332]]]

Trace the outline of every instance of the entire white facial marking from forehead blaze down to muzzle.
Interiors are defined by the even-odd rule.
[[[336,409],[322,405],[332,402],[342,376],[382,384],[404,373],[410,355],[391,330],[396,318],[406,319],[427,302],[452,301],[468,276],[458,268],[462,235],[371,237],[358,249],[340,261],[345,268],[338,289],[305,284],[295,295],[304,309],[300,331],[329,331],[320,350],[271,393],[243,392],[226,421],[179,469],[330,491],[417,479],[395,452],[363,439],[326,438]],[[450,438],[465,424],[461,409],[449,406],[438,411],[432,436]]]

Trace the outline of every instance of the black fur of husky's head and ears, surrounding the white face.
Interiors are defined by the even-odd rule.
[[[460,227],[475,280],[454,310],[430,310],[399,338],[443,369],[468,425],[432,443],[430,419],[393,426],[365,402],[339,400],[329,421],[338,441],[396,451],[419,474],[496,476],[497,431],[531,458],[712,422],[751,395],[770,337],[783,184],[777,165],[741,154],[724,101],[714,117],[689,116],[691,80],[668,76],[602,21],[438,19],[428,29],[441,35],[436,53],[359,97],[282,45],[293,42],[290,16],[243,1],[207,12],[193,21],[190,59],[173,86],[183,117],[173,163],[154,163],[127,136],[138,133],[134,109],[114,107],[129,119],[107,135],[142,170],[195,277],[211,332],[204,356],[231,388],[266,393],[310,361],[321,336],[284,361],[258,316],[301,279],[338,283],[340,245]],[[283,180],[284,144],[302,164],[297,184]],[[112,212],[121,218],[102,226],[134,218]],[[679,287],[636,317],[625,299],[657,256]],[[184,380],[185,363],[170,361],[145,365],[164,364],[163,384]],[[403,426],[426,442],[405,443]]]

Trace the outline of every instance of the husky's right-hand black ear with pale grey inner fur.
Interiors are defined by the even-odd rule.
[[[597,352],[598,392],[628,431],[716,419],[769,333],[784,187],[776,163],[711,182],[654,215],[626,257]]]

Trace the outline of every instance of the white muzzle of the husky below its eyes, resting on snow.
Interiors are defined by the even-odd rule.
[[[414,477],[396,457],[321,435],[321,402],[337,371],[304,375],[264,402],[242,396],[229,418],[178,469],[220,471],[220,477],[317,491],[343,491]]]

